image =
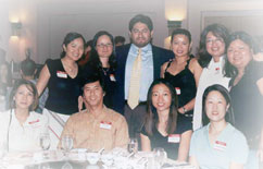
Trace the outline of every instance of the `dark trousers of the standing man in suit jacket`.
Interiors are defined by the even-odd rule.
[[[135,137],[136,133],[140,133],[145,122],[146,104],[140,104],[133,110],[125,104],[124,117],[128,123],[129,137]]]

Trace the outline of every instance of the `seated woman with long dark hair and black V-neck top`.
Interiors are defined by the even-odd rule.
[[[174,87],[165,80],[155,80],[148,92],[147,118],[140,133],[141,148],[150,152],[163,147],[167,157],[186,161],[191,125],[177,120],[178,100]]]

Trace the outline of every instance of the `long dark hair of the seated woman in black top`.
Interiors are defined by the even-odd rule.
[[[154,126],[156,126],[156,124],[159,123],[156,109],[152,105],[152,89],[155,85],[159,85],[159,84],[164,84],[168,88],[172,96],[166,132],[168,134],[172,134],[176,130],[176,124],[177,124],[178,99],[177,99],[175,89],[166,80],[164,79],[155,80],[152,82],[147,95],[147,116],[145,121],[145,129],[149,135],[152,135],[152,131]]]

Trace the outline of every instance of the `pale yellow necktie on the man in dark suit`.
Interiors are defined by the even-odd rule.
[[[141,49],[138,51],[138,56],[134,62],[129,90],[128,90],[128,105],[130,109],[134,109],[139,105],[140,94],[140,74],[141,74]]]

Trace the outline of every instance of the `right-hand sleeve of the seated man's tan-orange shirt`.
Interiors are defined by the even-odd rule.
[[[128,125],[124,117],[121,117],[120,122],[116,126],[116,140],[115,140],[115,147],[127,148],[128,145]]]

